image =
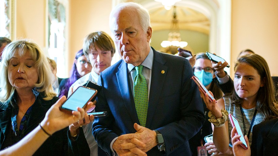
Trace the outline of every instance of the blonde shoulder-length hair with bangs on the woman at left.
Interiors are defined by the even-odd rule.
[[[43,93],[44,100],[51,100],[57,94],[53,91],[51,75],[52,71],[41,48],[28,40],[17,40],[8,44],[2,53],[2,61],[0,64],[0,101],[2,103],[7,102],[12,98],[15,92],[15,87],[11,86],[8,79],[8,64],[10,59],[18,53],[19,56],[23,56],[25,53],[29,53],[32,59],[35,61],[35,67],[38,69],[38,82],[34,87],[38,87],[37,91]]]

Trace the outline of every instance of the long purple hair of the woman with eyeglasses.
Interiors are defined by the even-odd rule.
[[[83,56],[83,49],[79,50],[76,55],[75,55],[75,59],[78,59],[78,57]],[[76,68],[76,64],[74,62],[74,64],[72,65],[72,68],[70,70],[70,78],[67,79],[67,82],[65,83],[65,86],[60,86],[61,87],[61,91],[59,94],[59,98],[61,98],[63,95],[65,95],[66,97],[68,97],[68,93],[69,93],[69,89],[70,86],[79,78],[81,78],[82,76],[80,76],[80,74],[77,71]]]

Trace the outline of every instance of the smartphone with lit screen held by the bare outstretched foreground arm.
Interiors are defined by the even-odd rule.
[[[79,86],[60,106],[60,110],[71,113],[72,111],[77,111],[77,107],[84,108],[96,94],[97,90],[95,89]]]

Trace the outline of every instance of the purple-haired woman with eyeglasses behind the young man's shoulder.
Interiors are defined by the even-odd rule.
[[[60,83],[59,88],[61,88],[61,91],[59,97],[61,98],[63,95],[68,97],[70,86],[79,78],[90,73],[91,70],[92,65],[85,57],[83,49],[79,50],[75,55],[74,64],[70,71],[70,78],[66,78]]]

